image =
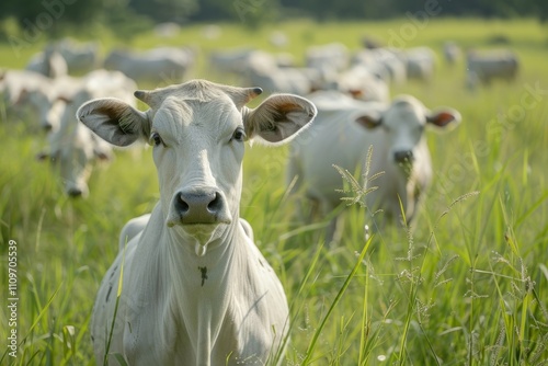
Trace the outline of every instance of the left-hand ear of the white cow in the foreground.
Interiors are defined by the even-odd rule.
[[[99,137],[112,145],[129,146],[148,139],[150,123],[147,113],[114,98],[96,99],[82,104],[77,118]]]

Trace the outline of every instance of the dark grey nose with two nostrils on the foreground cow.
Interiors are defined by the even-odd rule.
[[[224,220],[226,204],[214,188],[181,191],[174,197],[174,209],[182,224],[215,224]]]

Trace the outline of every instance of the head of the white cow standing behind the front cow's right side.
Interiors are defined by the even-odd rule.
[[[447,129],[456,126],[460,122],[460,113],[448,107],[432,112],[413,96],[402,95],[385,111],[357,115],[356,122],[368,129],[383,128],[388,161],[409,167],[416,147],[423,141],[425,127]]]

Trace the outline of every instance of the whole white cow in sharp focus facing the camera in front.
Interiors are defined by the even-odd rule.
[[[244,106],[260,93],[193,80],[135,92],[150,106],[146,112],[116,99],[79,108],[78,118],[111,144],[152,145],[160,185],[144,230],[101,284],[91,323],[98,364],[106,352],[129,365],[262,365],[277,358],[288,307],[239,220],[243,142],[279,145],[311,122],[316,107],[290,94]]]

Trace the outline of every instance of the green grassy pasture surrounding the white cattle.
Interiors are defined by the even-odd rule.
[[[389,228],[366,245],[362,209],[349,207],[341,244],[324,247],[319,226],[327,221],[306,225],[294,215],[296,198],[286,194],[284,178],[287,149],[247,148],[241,216],[292,307],[283,364],[548,365],[547,28],[533,20],[413,24],[294,21],[258,31],[227,24],[216,39],[203,38],[202,25],[170,39],[96,34],[103,50],[196,46],[192,76],[227,82],[207,68],[205,55],[237,46],[275,50],[267,42],[274,30],[289,36],[284,50],[297,60],[312,44],[338,41],[357,49],[365,34],[385,43],[396,34],[403,41],[397,46],[432,47],[439,57],[434,80],[392,85],[391,93],[411,93],[429,107],[453,106],[463,122],[453,131],[429,134],[435,178],[412,233]],[[447,39],[465,48],[512,48],[521,60],[517,80],[470,92],[463,60],[449,67],[442,58]],[[23,67],[42,46],[15,56],[0,44],[0,66]],[[93,365],[91,309],[119,230],[159,197],[150,150],[117,151],[110,165],[94,170],[90,196],[70,199],[52,167],[35,159],[46,146],[37,125],[3,119],[0,364]],[[15,295],[9,294],[8,270],[14,255]],[[12,297],[19,298],[16,312],[9,308]],[[13,329],[16,357],[8,347]]]

